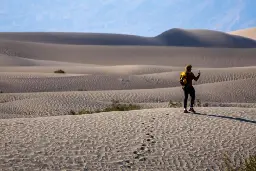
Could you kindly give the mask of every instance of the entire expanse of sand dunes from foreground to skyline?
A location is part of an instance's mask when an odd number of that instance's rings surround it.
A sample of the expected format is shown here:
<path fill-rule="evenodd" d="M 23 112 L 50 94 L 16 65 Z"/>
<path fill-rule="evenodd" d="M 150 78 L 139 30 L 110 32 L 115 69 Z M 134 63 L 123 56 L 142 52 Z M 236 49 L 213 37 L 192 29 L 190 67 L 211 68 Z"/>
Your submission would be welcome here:
<path fill-rule="evenodd" d="M 253 42 L 186 29 L 151 38 L 0 33 L 0 168 L 218 171 L 224 153 L 239 166 L 256 155 Z M 187 64 L 201 71 L 197 114 L 179 106 Z M 141 109 L 71 113 L 113 100 Z"/>

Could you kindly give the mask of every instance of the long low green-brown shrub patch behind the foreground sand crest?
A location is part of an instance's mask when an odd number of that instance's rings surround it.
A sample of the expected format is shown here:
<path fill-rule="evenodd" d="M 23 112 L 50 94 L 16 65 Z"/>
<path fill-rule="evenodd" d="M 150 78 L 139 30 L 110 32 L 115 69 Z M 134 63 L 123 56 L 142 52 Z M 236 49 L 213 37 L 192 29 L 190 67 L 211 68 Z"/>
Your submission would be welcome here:
<path fill-rule="evenodd" d="M 111 111 L 129 111 L 129 110 L 139 110 L 141 109 L 141 106 L 135 105 L 135 104 L 121 104 L 119 101 L 112 100 L 112 104 L 109 107 L 106 107 L 102 110 L 87 110 L 83 109 L 79 111 L 78 113 L 71 110 L 69 113 L 71 115 L 82 115 L 82 114 L 92 114 L 92 113 L 100 113 L 100 112 L 111 112 Z"/>

